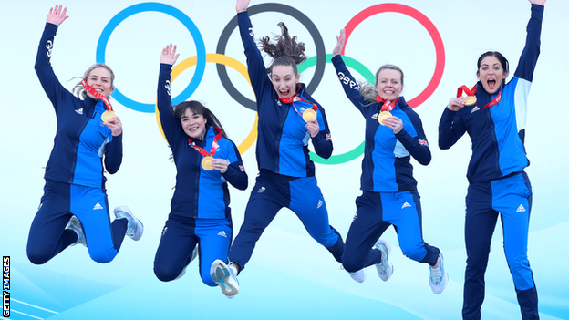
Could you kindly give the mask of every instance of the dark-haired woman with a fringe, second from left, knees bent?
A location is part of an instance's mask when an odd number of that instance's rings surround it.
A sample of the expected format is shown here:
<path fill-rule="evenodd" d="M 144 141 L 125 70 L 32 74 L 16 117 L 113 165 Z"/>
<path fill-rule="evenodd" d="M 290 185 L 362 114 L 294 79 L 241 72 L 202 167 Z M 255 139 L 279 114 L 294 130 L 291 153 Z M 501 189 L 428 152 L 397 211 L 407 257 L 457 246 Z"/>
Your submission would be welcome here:
<path fill-rule="evenodd" d="M 209 108 L 191 100 L 172 109 L 171 67 L 178 56 L 172 45 L 160 56 L 158 108 L 177 173 L 154 274 L 164 282 L 178 279 L 199 256 L 203 283 L 215 286 L 210 266 L 227 258 L 233 238 L 228 183 L 247 189 L 247 173 L 239 150 Z"/>

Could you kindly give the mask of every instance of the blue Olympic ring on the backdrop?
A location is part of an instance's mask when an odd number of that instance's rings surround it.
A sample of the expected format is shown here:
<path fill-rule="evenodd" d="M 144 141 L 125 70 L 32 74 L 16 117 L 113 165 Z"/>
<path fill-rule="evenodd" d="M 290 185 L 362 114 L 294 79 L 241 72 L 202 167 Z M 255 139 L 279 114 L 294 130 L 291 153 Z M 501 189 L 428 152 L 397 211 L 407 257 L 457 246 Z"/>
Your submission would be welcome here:
<path fill-rule="evenodd" d="M 198 88 L 200 82 L 202 82 L 203 73 L 205 71 L 206 53 L 202 34 L 200 33 L 198 27 L 195 26 L 188 15 L 185 15 L 175 7 L 171 5 L 148 2 L 138 5 L 131 5 L 128 8 L 120 11 L 117 15 L 113 16 L 113 18 L 110 19 L 109 24 L 105 26 L 103 32 L 98 38 L 96 56 L 97 63 L 105 63 L 105 51 L 107 50 L 109 37 L 115 28 L 130 15 L 136 15 L 145 11 L 157 11 L 175 17 L 184 26 L 186 26 L 188 31 L 190 31 L 191 36 L 193 37 L 198 61 L 196 64 L 195 72 L 191 78 L 190 84 L 188 84 L 188 87 L 186 87 L 181 92 L 181 94 L 178 95 L 178 97 L 172 98 L 172 104 L 177 105 L 178 103 L 185 101 L 187 98 L 190 98 L 191 94 L 193 94 L 193 92 Z M 134 101 L 120 93 L 119 88 L 115 88 L 112 97 L 119 101 L 119 103 L 122 105 L 127 106 L 128 108 L 132 108 L 136 111 L 153 113 L 155 109 L 154 103 L 141 103 Z"/>

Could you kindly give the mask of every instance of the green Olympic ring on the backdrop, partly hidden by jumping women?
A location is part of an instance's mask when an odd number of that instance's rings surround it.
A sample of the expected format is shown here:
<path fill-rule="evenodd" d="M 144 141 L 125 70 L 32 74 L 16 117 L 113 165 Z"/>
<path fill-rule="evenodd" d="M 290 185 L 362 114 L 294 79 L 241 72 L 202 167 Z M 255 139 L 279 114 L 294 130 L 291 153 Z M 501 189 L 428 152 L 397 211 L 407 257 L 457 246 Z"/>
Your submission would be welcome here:
<path fill-rule="evenodd" d="M 366 78 L 367 82 L 372 85 L 376 84 L 376 78 L 373 72 L 369 71 L 369 69 L 362 65 L 361 63 L 357 62 L 356 59 L 351 57 L 342 56 L 344 62 L 348 67 L 352 67 L 356 70 L 360 75 Z M 332 54 L 326 54 L 326 63 L 332 62 Z M 298 65 L 298 73 L 302 73 L 309 67 L 316 66 L 316 57 L 309 57 L 306 59 L 305 62 Z M 366 141 L 364 140 L 359 146 L 357 146 L 354 150 L 347 151 L 346 153 L 333 155 L 328 159 L 324 159 L 318 156 L 316 153 L 310 151 L 310 160 L 315 161 L 316 163 L 322 164 L 340 164 L 347 161 L 351 161 L 359 157 L 360 155 L 364 154 L 364 148 L 366 147 Z"/>

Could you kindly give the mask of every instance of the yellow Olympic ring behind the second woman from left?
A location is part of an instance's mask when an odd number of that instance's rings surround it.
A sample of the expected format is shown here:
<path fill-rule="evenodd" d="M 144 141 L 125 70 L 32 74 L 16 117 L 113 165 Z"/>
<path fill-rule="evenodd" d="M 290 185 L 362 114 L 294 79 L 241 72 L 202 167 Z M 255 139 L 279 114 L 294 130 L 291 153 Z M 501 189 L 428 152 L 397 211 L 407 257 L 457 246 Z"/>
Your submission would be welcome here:
<path fill-rule="evenodd" d="M 189 67 L 195 66 L 197 61 L 198 57 L 193 56 L 181 61 L 181 63 L 179 63 L 176 67 L 173 67 L 171 72 L 171 83 L 174 82 L 174 79 L 178 77 L 182 71 L 184 71 Z M 233 67 L 233 69 L 239 72 L 249 82 L 249 85 L 251 86 L 251 80 L 249 79 L 249 74 L 247 73 L 247 67 L 245 67 L 241 62 L 233 59 L 233 57 L 227 57 L 225 55 L 220 55 L 220 54 L 207 54 L 206 62 L 214 62 L 227 67 Z M 156 121 L 158 122 L 158 128 L 160 129 L 162 137 L 166 139 L 166 136 L 164 135 L 164 129 L 162 129 L 162 123 L 160 121 L 160 111 L 158 110 L 158 102 L 155 105 L 155 109 L 156 109 Z M 251 129 L 251 132 L 249 132 L 247 138 L 245 138 L 243 142 L 239 146 L 237 146 L 239 153 L 243 154 L 246 150 L 249 150 L 249 148 L 251 148 L 251 146 L 253 145 L 254 140 L 257 139 L 258 121 L 259 121 L 259 116 L 255 114 L 255 121 L 253 124 L 253 128 Z"/>

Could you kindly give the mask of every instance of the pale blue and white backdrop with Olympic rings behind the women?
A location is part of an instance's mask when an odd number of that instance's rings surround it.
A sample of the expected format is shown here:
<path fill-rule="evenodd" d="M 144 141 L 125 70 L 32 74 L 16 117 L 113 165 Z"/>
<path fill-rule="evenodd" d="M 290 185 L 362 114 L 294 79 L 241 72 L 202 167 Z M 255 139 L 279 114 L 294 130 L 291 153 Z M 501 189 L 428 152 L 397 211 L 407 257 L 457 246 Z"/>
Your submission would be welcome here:
<path fill-rule="evenodd" d="M 525 0 L 252 1 L 249 14 L 256 38 L 280 32 L 285 22 L 305 42 L 308 60 L 301 81 L 326 108 L 335 150 L 324 160 L 311 153 L 330 224 L 344 237 L 361 194 L 364 120 L 345 97 L 330 64 L 336 35 L 347 30 L 344 55 L 360 81 L 374 83 L 383 64 L 405 72 L 404 97 L 419 113 L 433 160 L 413 161 L 419 181 L 423 236 L 445 253 L 450 283 L 430 292 L 429 268 L 402 255 L 392 228 L 395 273 L 387 282 L 367 269 L 364 284 L 352 281 L 329 253 L 312 240 L 294 213 L 283 210 L 257 243 L 239 276 L 241 293 L 226 299 L 219 288 L 202 284 L 193 262 L 179 280 L 161 283 L 153 274 L 154 254 L 170 211 L 175 168 L 156 113 L 161 49 L 172 43 L 180 57 L 172 71 L 177 104 L 196 99 L 221 119 L 243 156 L 250 178 L 247 191 L 231 189 L 235 235 L 257 173 L 256 106 L 237 31 L 235 3 L 161 3 L 70 0 L 70 16 L 57 31 L 52 66 L 66 88 L 96 62 L 113 68 L 111 102 L 124 126 L 124 160 L 108 175 L 109 207 L 128 205 L 144 223 L 140 242 L 126 239 L 111 263 L 94 263 L 82 246 L 67 248 L 50 262 L 33 265 L 26 257 L 29 226 L 43 193 L 44 167 L 53 145 L 56 120 L 33 70 L 37 44 L 49 7 L 43 1 L 11 2 L 3 19 L 0 126 L 0 253 L 10 256 L 13 319 L 458 319 L 466 254 L 465 178 L 471 141 L 463 137 L 450 150 L 437 147 L 440 114 L 461 85 L 476 82 L 476 60 L 498 50 L 512 70 L 522 52 L 530 4 Z M 564 146 L 564 75 L 569 63 L 564 13 L 569 4 L 548 0 L 542 53 L 529 98 L 526 149 L 532 165 L 533 211 L 528 253 L 542 319 L 569 318 L 569 280 L 564 243 L 569 242 L 565 198 L 569 172 Z M 270 63 L 266 58 L 265 63 Z M 312 149 L 312 146 L 311 146 Z M 493 236 L 486 274 L 485 319 L 519 319 L 512 277 L 502 249 L 502 226 Z"/>

